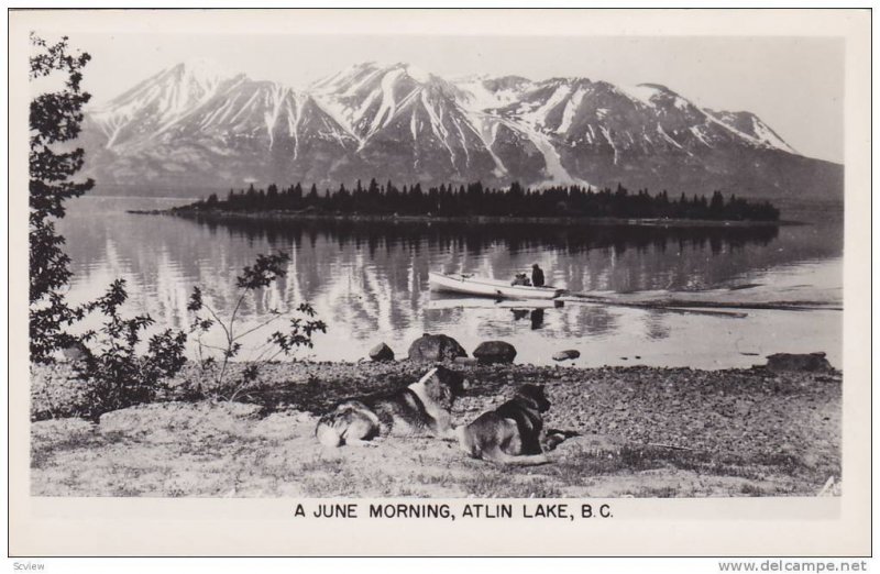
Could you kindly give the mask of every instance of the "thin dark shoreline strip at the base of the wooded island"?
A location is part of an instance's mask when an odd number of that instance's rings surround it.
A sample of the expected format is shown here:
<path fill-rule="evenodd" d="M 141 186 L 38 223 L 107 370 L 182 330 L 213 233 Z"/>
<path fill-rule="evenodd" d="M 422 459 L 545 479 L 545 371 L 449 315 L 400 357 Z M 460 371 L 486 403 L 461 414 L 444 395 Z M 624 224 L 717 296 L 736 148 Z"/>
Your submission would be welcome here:
<path fill-rule="evenodd" d="M 553 224 L 553 225 L 631 225 L 652 228 L 777 228 L 805 225 L 800 221 L 740 221 L 708 219 L 660 219 L 660 218 L 588 218 L 588 217 L 509 217 L 509 216 L 395 216 L 369 213 L 318 213 L 302 211 L 223 211 L 186 208 L 139 210 L 127 213 L 138 216 L 172 216 L 207 221 L 345 221 L 385 223 L 505 223 L 505 224 Z"/>

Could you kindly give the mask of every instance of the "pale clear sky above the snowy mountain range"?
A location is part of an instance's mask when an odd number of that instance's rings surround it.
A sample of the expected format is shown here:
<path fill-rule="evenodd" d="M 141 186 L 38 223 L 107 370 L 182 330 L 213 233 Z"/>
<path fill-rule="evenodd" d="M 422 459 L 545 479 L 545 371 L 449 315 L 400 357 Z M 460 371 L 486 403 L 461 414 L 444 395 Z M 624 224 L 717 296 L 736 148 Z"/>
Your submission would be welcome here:
<path fill-rule="evenodd" d="M 835 37 L 76 33 L 70 44 L 92 56 L 84 86 L 96 104 L 193 58 L 300 89 L 361 62 L 406 62 L 446 78 L 661 84 L 697 106 L 756 113 L 803 155 L 844 157 L 845 44 Z"/>

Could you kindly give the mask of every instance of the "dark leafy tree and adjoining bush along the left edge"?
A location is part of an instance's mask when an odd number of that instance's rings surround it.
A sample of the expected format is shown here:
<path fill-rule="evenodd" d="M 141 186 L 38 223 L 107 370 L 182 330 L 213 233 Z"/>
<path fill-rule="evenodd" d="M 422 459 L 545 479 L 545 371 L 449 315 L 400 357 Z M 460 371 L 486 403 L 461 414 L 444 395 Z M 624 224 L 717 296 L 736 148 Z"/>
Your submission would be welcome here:
<path fill-rule="evenodd" d="M 170 329 L 153 335 L 141 353 L 150 316 L 123 318 L 128 299 L 125 283 L 113 282 L 107 294 L 80 307 L 70 307 L 64 289 L 70 279 L 69 257 L 55 221 L 65 216 L 65 201 L 92 188 L 95 181 L 75 181 L 84 151 L 72 148 L 82 122 L 82 107 L 90 95 L 80 89 L 88 54 L 72 55 L 67 37 L 50 45 L 31 35 L 31 79 L 64 77 L 58 91 L 40 93 L 30 109 L 30 342 L 31 360 L 48 363 L 59 349 L 77 345 L 85 357 L 76 363 L 77 377 L 86 388 L 84 413 L 98 417 L 108 410 L 155 399 L 163 382 L 184 365 L 186 333 Z M 77 338 L 66 328 L 92 312 L 106 319 L 98 331 Z M 90 343 L 87 345 L 86 343 Z"/>

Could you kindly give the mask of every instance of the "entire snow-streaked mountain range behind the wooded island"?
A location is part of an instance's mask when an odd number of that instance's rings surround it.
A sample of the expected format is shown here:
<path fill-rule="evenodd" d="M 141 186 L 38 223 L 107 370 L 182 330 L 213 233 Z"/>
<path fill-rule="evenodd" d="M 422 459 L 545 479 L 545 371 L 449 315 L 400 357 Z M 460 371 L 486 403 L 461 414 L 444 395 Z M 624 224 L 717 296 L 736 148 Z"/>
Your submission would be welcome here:
<path fill-rule="evenodd" d="M 82 141 L 101 186 L 334 189 L 376 177 L 752 197 L 843 190 L 842 166 L 799 155 L 755 114 L 703 109 L 663 86 L 448 80 L 403 63 L 359 64 L 296 91 L 187 62 L 90 110 Z"/>

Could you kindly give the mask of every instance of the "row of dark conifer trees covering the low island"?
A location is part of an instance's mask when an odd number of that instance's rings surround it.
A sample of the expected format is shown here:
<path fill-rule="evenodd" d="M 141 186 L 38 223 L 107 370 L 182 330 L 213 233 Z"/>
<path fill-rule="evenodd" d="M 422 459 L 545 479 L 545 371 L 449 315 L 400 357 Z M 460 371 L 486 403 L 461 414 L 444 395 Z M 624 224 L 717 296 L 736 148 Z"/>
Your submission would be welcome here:
<path fill-rule="evenodd" d="M 476 181 L 468 185 L 441 184 L 422 189 L 420 184 L 398 188 L 392 181 L 380 185 L 372 179 L 366 186 L 359 179 L 353 189 L 344 184 L 323 192 L 312 184 L 305 190 L 301 184 L 286 189 L 271 184 L 266 189 L 230 189 L 224 200 L 211 194 L 184 209 L 228 211 L 311 211 L 318 213 L 367 216 L 435 216 L 435 217 L 586 217 L 696 219 L 730 221 L 778 221 L 779 209 L 767 201 L 752 202 L 736 195 L 725 198 L 715 191 L 711 198 L 681 194 L 670 198 L 663 190 L 651 195 L 647 189 L 631 194 L 623 185 L 612 190 L 594 190 L 578 185 L 553 186 L 544 189 L 524 188 L 514 181 L 507 189 L 484 187 Z"/>

